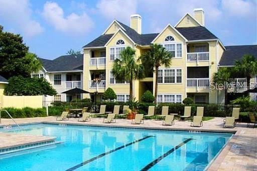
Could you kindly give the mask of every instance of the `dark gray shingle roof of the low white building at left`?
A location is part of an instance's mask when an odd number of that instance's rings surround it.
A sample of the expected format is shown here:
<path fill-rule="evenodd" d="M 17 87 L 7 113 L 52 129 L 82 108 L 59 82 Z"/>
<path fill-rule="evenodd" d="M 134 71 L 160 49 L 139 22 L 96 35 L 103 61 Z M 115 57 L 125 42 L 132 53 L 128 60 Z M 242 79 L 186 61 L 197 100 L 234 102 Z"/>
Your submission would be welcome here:
<path fill-rule="evenodd" d="M 48 72 L 83 70 L 83 54 L 64 55 L 54 60 L 39 58 Z"/>

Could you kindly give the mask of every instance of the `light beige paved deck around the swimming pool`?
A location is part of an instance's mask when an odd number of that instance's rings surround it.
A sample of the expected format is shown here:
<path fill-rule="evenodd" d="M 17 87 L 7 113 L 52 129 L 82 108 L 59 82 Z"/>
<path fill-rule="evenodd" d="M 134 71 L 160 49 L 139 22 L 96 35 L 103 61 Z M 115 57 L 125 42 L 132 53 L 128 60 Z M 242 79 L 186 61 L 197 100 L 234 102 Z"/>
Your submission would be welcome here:
<path fill-rule="evenodd" d="M 246 123 L 237 123 L 235 128 L 223 128 L 223 118 L 214 118 L 203 122 L 202 127 L 191 127 L 189 121 L 177 121 L 173 126 L 163 126 L 160 120 L 145 120 L 144 124 L 132 125 L 131 120 L 116 119 L 116 123 L 102 123 L 102 118 L 91 118 L 90 122 L 78 122 L 75 118 L 70 118 L 66 121 L 56 121 L 56 117 L 37 117 L 37 118 L 21 118 L 15 119 L 18 124 L 34 123 L 34 122 L 54 122 L 61 124 L 85 124 L 95 126 L 110 126 L 110 127 L 137 127 L 151 129 L 166 129 L 166 130 L 195 130 L 195 131 L 230 131 L 236 132 L 223 148 L 218 157 L 211 163 L 208 170 L 256 170 L 257 171 L 257 129 L 247 128 Z M 2 119 L 0 125 L 14 124 L 11 119 Z M 9 134 L 9 133 L 4 133 Z M 11 133 L 10 133 L 11 134 Z M 16 143 L 20 139 L 21 134 L 12 134 L 13 137 L 9 140 L 1 141 L 2 145 Z M 35 138 L 28 138 L 24 135 L 26 141 Z M 3 138 L 3 133 L 0 133 L 0 139 Z M 44 137 L 44 136 L 43 136 Z M 39 137 L 36 137 L 39 140 Z M 14 141 L 14 142 L 13 142 Z M 0 143 L 0 148 L 1 148 Z"/>

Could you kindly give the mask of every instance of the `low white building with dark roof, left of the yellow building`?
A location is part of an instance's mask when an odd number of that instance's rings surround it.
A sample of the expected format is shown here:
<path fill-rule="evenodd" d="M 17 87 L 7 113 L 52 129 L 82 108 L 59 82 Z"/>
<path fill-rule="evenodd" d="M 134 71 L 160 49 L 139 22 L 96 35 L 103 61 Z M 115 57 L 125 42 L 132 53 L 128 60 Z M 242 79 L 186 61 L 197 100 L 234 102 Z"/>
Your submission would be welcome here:
<path fill-rule="evenodd" d="M 53 101 L 71 101 L 75 95 L 62 94 L 62 92 L 72 88 L 83 87 L 83 55 L 64 55 L 54 60 L 40 58 L 43 69 L 38 73 L 32 73 L 32 77 L 44 77 L 56 89 L 56 96 L 47 96 L 45 103 Z"/>

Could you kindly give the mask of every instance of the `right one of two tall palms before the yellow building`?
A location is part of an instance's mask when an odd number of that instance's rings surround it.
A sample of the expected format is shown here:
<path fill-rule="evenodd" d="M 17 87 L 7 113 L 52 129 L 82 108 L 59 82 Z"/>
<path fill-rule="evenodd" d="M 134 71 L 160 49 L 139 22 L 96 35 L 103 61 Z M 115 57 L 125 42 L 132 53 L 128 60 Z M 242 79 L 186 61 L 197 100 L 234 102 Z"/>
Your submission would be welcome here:
<path fill-rule="evenodd" d="M 140 59 L 149 70 L 153 71 L 155 67 L 155 103 L 157 103 L 159 67 L 162 65 L 169 67 L 171 65 L 172 54 L 162 45 L 154 44 L 151 45 L 150 51 L 145 52 Z"/>

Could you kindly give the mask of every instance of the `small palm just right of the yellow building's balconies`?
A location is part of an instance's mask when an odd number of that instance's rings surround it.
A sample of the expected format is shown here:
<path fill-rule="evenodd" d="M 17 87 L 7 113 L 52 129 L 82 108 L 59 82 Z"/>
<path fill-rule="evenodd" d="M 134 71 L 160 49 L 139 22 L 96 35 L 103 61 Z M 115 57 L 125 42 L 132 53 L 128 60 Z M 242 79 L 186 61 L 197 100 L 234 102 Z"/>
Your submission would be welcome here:
<path fill-rule="evenodd" d="M 213 82 L 216 84 L 222 84 L 225 93 L 225 104 L 227 104 L 227 87 L 226 83 L 229 82 L 231 77 L 230 70 L 228 68 L 219 68 L 218 72 L 213 75 Z"/>

